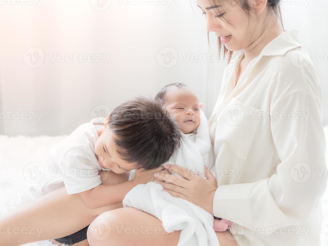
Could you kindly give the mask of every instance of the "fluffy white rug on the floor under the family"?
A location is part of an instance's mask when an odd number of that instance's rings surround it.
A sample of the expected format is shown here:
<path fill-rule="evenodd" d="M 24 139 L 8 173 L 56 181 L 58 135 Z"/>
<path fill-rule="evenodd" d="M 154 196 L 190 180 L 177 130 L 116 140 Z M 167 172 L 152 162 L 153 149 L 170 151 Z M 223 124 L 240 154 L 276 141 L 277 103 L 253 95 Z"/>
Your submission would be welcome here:
<path fill-rule="evenodd" d="M 325 128 L 325 134 L 328 143 L 328 126 Z M 63 138 L 64 136 L 0 136 L 0 217 L 32 199 L 29 193 L 30 183 L 23 177 L 24 167 L 28 163 L 42 161 L 51 146 Z M 328 150 L 326 160 L 328 163 Z M 328 189 L 321 202 L 323 208 L 321 242 L 322 246 L 325 246 L 328 245 Z M 50 241 L 40 241 L 27 245 L 52 246 L 53 244 Z"/>

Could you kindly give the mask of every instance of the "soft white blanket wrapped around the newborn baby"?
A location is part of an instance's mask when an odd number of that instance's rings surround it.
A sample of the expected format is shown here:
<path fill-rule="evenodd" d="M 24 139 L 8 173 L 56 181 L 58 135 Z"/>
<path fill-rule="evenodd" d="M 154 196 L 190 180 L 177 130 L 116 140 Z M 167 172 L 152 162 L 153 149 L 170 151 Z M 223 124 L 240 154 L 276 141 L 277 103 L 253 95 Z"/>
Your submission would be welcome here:
<path fill-rule="evenodd" d="M 200 124 L 197 130 L 183 134 L 181 146 L 167 163 L 169 162 L 192 170 L 203 178 L 206 178 L 204 165 L 212 169 L 213 151 L 208 122 L 202 111 L 200 111 Z M 134 178 L 134 174 L 135 170 L 131 171 L 129 180 Z M 178 246 L 219 245 L 213 230 L 213 215 L 192 202 L 173 197 L 162 190 L 163 187 L 154 182 L 136 185 L 125 196 L 123 207 L 133 207 L 154 215 L 162 221 L 168 233 L 181 230 Z"/>

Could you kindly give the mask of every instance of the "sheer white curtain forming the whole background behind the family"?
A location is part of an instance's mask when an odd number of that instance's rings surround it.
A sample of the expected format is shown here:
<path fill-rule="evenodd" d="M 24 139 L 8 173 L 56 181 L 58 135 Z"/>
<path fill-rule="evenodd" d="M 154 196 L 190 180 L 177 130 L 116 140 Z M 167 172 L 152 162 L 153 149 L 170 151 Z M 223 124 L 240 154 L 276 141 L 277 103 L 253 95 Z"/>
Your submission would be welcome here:
<path fill-rule="evenodd" d="M 285 29 L 300 30 L 327 96 L 328 4 L 302 1 L 306 7 L 282 2 Z M 208 45 L 194 0 L 0 4 L 0 134 L 69 134 L 173 82 L 194 90 L 211 115 L 226 61 L 216 56 L 214 35 Z"/>

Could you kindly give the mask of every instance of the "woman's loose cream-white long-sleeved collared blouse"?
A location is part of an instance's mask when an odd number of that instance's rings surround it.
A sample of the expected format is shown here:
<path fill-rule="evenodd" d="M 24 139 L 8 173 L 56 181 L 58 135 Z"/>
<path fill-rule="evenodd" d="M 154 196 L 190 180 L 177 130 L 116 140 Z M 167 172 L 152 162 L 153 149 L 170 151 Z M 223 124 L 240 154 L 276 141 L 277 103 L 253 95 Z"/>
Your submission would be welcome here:
<path fill-rule="evenodd" d="M 280 34 L 247 66 L 226 67 L 209 120 L 218 188 L 213 211 L 239 246 L 320 245 L 325 177 L 322 92 L 298 30 Z"/>

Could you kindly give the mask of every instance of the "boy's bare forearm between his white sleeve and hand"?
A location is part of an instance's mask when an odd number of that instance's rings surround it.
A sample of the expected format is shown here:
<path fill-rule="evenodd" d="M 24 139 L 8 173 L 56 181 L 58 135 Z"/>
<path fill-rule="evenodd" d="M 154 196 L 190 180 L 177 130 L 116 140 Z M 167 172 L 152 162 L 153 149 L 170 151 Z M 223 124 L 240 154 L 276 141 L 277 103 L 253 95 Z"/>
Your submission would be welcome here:
<path fill-rule="evenodd" d="M 133 187 L 133 180 L 115 185 L 100 184 L 90 190 L 79 193 L 79 196 L 87 208 L 96 209 L 122 202 L 125 195 Z"/>

